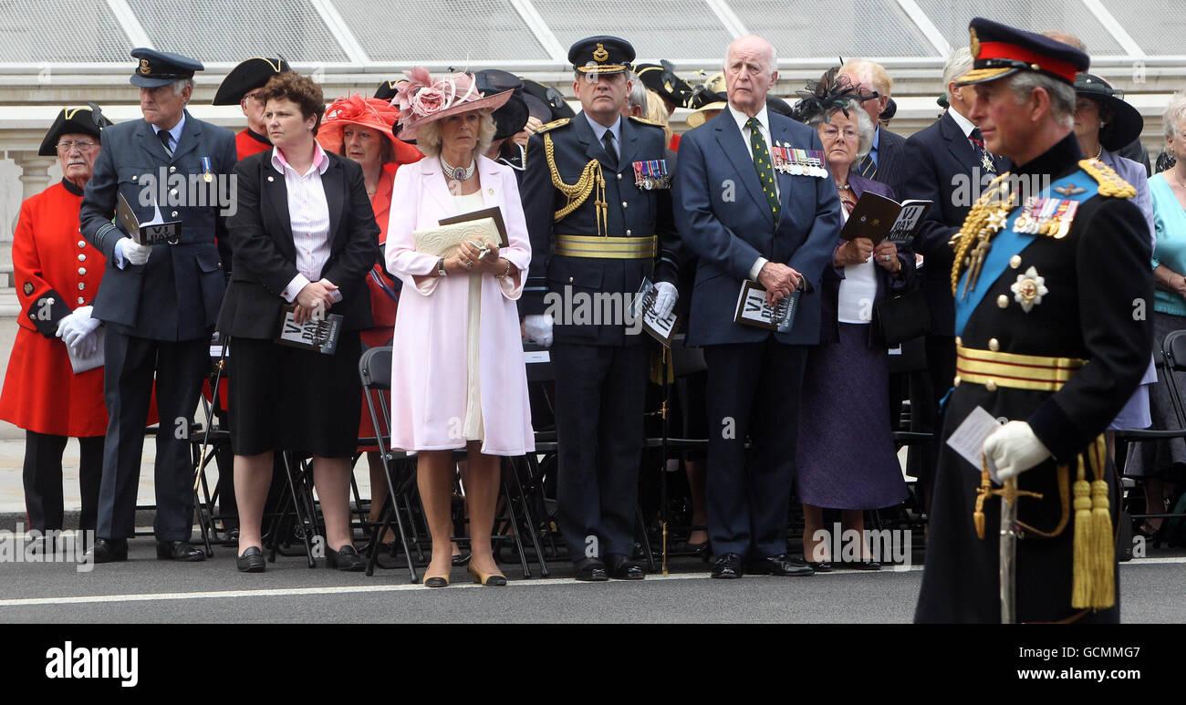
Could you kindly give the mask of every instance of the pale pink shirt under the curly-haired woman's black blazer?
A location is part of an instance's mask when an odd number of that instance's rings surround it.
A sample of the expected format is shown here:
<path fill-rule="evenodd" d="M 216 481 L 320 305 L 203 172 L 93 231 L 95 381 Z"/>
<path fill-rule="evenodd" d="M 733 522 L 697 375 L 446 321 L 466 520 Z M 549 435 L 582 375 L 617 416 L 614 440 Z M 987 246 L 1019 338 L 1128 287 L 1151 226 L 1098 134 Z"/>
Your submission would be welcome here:
<path fill-rule="evenodd" d="M 321 174 L 330 168 L 330 158 L 319 143 L 313 142 L 313 164 L 304 174 L 296 173 L 279 148 L 272 148 L 272 167 L 283 175 L 288 190 L 288 219 L 296 250 L 296 276 L 282 293 L 289 303 L 310 282 L 321 278 L 321 269 L 330 258 L 330 205 L 321 185 Z M 340 301 L 342 294 L 334 291 L 333 300 Z"/>

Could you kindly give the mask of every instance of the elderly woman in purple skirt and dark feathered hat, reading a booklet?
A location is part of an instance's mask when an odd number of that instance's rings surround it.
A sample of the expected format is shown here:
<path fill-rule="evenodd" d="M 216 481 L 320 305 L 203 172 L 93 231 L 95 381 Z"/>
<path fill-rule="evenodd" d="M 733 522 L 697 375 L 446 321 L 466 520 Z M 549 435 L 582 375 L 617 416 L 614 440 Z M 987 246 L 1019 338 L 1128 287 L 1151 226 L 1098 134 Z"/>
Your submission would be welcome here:
<path fill-rule="evenodd" d="M 891 188 L 850 173 L 873 143 L 873 124 L 859 89 L 846 78 L 809 86 L 798 116 L 820 132 L 824 159 L 840 194 L 842 219 L 866 191 L 893 198 Z M 823 509 L 841 509 L 846 536 L 861 537 L 848 563 L 878 570 L 865 537 L 865 509 L 906 499 L 890 419 L 886 344 L 873 326 L 873 308 L 913 282 L 914 255 L 888 241 L 840 239 L 824 271 L 820 345 L 808 353 L 798 427 L 796 485 L 803 502 L 804 558 L 816 571 L 831 569 Z M 849 543 L 846 540 L 846 543 Z M 849 558 L 849 551 L 844 551 Z"/>

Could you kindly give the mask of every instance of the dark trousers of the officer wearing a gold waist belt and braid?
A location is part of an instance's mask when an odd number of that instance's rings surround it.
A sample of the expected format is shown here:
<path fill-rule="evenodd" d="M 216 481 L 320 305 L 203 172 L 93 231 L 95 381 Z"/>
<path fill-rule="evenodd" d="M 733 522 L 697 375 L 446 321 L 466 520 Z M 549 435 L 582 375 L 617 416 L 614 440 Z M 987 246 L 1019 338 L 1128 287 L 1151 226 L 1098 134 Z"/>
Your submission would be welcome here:
<path fill-rule="evenodd" d="M 635 551 L 648 346 L 551 346 L 560 530 L 572 559 Z M 588 537 L 595 537 L 591 541 Z"/>

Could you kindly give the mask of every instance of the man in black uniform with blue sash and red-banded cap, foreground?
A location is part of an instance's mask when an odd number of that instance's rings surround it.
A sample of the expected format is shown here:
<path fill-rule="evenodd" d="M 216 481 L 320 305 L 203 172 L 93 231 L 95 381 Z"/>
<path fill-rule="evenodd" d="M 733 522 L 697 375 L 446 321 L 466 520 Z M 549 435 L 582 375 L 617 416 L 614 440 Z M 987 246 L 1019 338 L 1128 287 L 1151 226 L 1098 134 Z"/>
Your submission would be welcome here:
<path fill-rule="evenodd" d="M 943 446 L 916 620 L 1115 622 L 1120 495 L 1103 432 L 1148 365 L 1148 226 L 1135 190 L 1084 159 L 1071 133 L 1086 55 L 981 18 L 970 28 L 975 64 L 957 84 L 976 91 L 969 118 L 986 147 L 1016 166 L 952 241 L 956 377 L 943 438 L 977 406 L 1007 423 L 989 421 L 983 446 L 965 449 L 982 451 L 976 464 Z M 1001 521 L 1003 499 L 1015 521 Z M 1002 560 L 1015 588 L 1002 589 Z"/>

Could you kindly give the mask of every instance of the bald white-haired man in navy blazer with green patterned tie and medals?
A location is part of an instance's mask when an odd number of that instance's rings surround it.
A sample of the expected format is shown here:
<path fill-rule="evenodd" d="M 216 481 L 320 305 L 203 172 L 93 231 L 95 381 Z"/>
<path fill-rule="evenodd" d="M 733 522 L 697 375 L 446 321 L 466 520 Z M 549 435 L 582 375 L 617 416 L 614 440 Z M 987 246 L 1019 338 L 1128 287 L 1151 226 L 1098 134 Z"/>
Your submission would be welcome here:
<path fill-rule="evenodd" d="M 817 291 L 836 246 L 840 199 L 827 173 L 772 168 L 771 142 L 822 155 L 816 130 L 766 109 L 777 65 L 774 47 L 760 37 L 729 45 L 728 108 L 684 134 L 675 178 L 676 225 L 699 256 L 688 344 L 703 346 L 708 364 L 708 533 L 716 578 L 746 570 L 811 575 L 786 555 L 786 523 L 804 346 L 820 342 Z M 757 280 L 771 301 L 803 290 L 790 331 L 733 322 L 745 280 Z"/>

